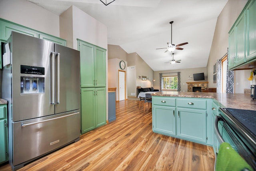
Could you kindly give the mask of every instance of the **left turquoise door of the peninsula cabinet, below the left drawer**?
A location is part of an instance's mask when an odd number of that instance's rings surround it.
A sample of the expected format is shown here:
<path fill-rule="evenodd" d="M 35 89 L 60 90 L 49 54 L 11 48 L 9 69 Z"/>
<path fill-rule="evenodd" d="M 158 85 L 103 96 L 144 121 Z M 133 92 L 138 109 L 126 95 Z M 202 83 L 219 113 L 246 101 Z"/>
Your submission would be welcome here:
<path fill-rule="evenodd" d="M 152 111 L 153 131 L 176 135 L 175 107 L 154 105 Z"/>

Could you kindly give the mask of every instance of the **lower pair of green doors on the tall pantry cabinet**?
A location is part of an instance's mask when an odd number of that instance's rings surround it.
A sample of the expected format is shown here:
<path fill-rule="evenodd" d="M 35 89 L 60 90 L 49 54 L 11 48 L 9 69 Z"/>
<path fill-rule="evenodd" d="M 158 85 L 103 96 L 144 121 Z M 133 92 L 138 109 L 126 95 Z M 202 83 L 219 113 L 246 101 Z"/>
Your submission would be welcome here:
<path fill-rule="evenodd" d="M 81 89 L 81 133 L 106 124 L 106 87 Z"/>

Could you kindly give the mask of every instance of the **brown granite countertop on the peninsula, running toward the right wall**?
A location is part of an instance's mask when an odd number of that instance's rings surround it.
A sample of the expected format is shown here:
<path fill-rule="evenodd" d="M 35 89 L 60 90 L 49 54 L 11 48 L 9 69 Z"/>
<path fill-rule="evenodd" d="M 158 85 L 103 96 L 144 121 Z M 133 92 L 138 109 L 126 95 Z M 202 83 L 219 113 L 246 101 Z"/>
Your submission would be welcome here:
<path fill-rule="evenodd" d="M 153 96 L 168 97 L 194 97 L 214 99 L 220 107 L 234 109 L 256 110 L 256 99 L 252 99 L 250 94 L 245 93 L 201 93 L 201 92 L 177 92 L 177 91 L 159 91 L 152 93 Z"/>

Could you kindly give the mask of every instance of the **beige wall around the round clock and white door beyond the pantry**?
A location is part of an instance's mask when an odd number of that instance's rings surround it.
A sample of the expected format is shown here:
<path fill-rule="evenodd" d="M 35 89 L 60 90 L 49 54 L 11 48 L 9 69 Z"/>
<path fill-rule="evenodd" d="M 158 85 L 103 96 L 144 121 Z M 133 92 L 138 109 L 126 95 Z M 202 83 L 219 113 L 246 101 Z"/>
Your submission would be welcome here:
<path fill-rule="evenodd" d="M 108 45 L 108 87 L 118 87 L 119 62 L 126 62 L 126 98 L 136 97 L 136 87 L 151 87 L 154 71 L 136 53 L 127 54 L 120 46 Z M 131 69 L 134 67 L 134 69 Z M 117 74 L 117 75 L 116 75 Z M 150 80 L 142 81 L 138 76 L 146 76 Z M 114 80 L 116 78 L 116 80 Z M 135 93 L 135 95 L 132 95 Z M 118 100 L 118 90 L 116 92 Z"/>

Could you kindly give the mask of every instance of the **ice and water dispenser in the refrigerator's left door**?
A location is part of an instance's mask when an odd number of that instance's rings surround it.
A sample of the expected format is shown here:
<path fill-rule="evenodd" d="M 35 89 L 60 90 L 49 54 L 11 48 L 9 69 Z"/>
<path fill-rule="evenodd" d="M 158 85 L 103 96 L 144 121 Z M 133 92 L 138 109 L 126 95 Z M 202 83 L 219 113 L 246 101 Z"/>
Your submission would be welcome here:
<path fill-rule="evenodd" d="M 44 93 L 44 68 L 20 66 L 20 93 Z M 32 76 L 33 74 L 33 76 Z M 40 75 L 40 76 L 34 76 Z"/>

